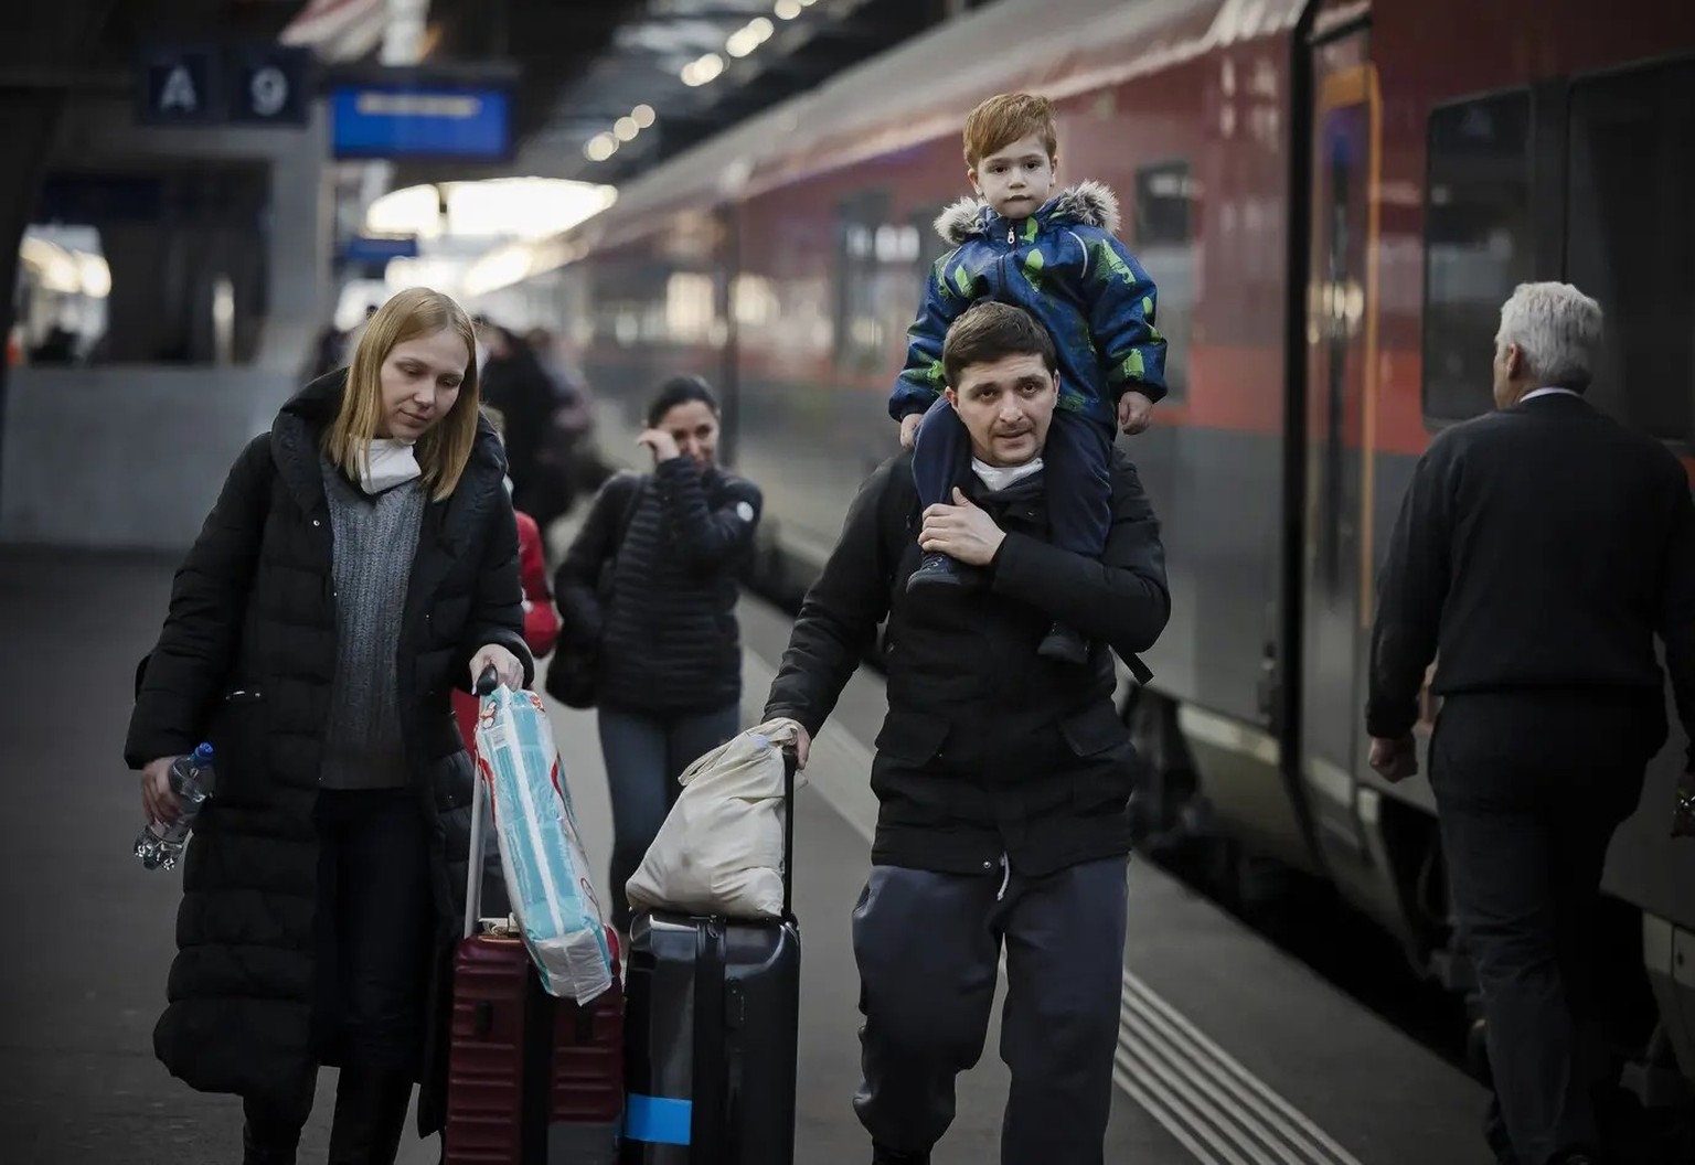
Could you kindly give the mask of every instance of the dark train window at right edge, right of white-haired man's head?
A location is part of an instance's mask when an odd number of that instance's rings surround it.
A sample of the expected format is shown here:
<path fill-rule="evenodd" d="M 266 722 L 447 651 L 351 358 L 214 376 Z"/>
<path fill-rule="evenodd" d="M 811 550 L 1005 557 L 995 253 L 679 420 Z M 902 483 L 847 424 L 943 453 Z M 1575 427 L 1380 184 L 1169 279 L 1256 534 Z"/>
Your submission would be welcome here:
<path fill-rule="evenodd" d="M 1688 440 L 1695 63 L 1578 81 L 1566 157 L 1566 278 L 1607 312 L 1590 395 L 1636 428 Z"/>

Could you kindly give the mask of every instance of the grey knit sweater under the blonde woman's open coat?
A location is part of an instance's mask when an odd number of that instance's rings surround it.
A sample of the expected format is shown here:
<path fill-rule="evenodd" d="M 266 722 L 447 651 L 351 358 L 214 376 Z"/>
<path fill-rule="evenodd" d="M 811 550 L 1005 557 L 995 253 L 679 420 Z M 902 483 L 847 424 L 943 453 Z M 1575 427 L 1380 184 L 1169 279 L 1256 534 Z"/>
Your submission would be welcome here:
<path fill-rule="evenodd" d="M 395 655 L 424 488 L 414 479 L 370 498 L 325 461 L 324 493 L 336 533 L 336 687 L 319 784 L 393 789 L 407 784 Z"/>

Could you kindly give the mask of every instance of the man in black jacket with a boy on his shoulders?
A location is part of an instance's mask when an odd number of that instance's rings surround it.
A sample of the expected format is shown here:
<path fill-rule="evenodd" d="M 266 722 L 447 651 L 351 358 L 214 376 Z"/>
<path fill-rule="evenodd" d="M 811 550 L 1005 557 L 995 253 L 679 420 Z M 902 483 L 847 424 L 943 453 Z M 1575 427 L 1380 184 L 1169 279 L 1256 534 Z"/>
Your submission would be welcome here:
<path fill-rule="evenodd" d="M 983 1052 L 1002 947 L 1000 1055 L 1012 1070 L 1003 1165 L 1102 1165 L 1124 984 L 1129 733 L 1114 669 L 1036 659 L 1056 618 L 1132 660 L 1170 615 L 1159 523 L 1110 454 L 1097 557 L 1056 545 L 1071 505 L 1044 471 L 1059 403 L 1053 339 L 980 303 L 941 347 L 973 472 L 920 506 L 912 454 L 861 486 L 807 594 L 764 720 L 812 735 L 883 645 L 871 877 L 853 918 L 863 1084 L 875 1165 L 927 1165 L 954 1118 L 954 1077 Z M 919 601 L 907 581 L 948 554 L 981 584 Z M 922 618 L 915 615 L 922 606 Z"/>

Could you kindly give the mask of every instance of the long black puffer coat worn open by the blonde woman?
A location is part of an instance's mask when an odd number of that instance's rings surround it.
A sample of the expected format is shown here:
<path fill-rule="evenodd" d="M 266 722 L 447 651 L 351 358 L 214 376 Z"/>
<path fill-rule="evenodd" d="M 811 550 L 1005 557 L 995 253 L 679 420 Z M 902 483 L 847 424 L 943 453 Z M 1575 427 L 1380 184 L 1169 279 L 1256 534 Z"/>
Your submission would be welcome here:
<path fill-rule="evenodd" d="M 131 767 L 215 748 L 217 792 L 195 826 L 176 919 L 180 953 L 154 1052 L 205 1092 L 295 1079 L 314 1053 L 317 799 L 336 674 L 331 518 L 319 469 L 346 371 L 308 384 L 236 461 L 176 574 L 171 611 L 136 698 Z M 447 955 L 458 938 L 471 765 L 449 704 L 471 655 L 500 643 L 525 662 L 517 527 L 486 422 L 453 496 L 419 530 L 397 657 L 400 715 L 420 813 L 434 823 L 437 906 L 419 1124 L 441 1126 Z"/>

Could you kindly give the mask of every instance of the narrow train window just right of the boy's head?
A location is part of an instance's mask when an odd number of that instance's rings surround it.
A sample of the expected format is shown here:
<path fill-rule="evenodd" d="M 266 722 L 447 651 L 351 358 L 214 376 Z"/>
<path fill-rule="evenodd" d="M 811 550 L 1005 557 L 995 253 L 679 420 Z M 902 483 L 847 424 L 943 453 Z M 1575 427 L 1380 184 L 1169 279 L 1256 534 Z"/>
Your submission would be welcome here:
<path fill-rule="evenodd" d="M 1154 323 L 1166 337 L 1166 400 L 1188 393 L 1188 345 L 1195 312 L 1195 178 L 1186 161 L 1136 171 L 1132 247 L 1159 288 Z"/>

